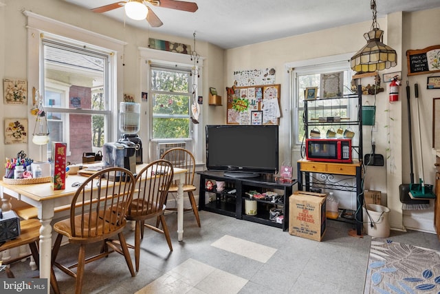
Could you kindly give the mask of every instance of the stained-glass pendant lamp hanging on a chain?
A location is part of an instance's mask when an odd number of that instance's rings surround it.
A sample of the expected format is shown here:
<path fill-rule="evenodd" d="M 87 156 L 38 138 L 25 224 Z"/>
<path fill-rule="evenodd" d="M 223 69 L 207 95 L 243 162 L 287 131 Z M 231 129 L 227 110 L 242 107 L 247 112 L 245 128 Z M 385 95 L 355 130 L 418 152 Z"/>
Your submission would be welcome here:
<path fill-rule="evenodd" d="M 351 57 L 351 69 L 355 72 L 376 72 L 397 65 L 397 53 L 382 42 L 384 31 L 376 21 L 376 2 L 371 0 L 373 24 L 371 30 L 364 34 L 366 45 Z"/>

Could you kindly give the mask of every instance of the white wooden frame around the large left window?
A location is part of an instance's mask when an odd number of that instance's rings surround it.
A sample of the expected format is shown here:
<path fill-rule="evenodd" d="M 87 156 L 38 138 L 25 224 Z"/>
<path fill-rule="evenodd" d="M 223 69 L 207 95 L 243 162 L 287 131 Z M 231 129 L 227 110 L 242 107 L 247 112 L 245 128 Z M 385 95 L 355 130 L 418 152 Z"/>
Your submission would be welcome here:
<path fill-rule="evenodd" d="M 111 56 L 111 65 L 109 66 L 109 112 L 111 122 L 106 125 L 107 138 L 109 141 L 118 138 L 118 97 L 123 96 L 123 66 L 122 59 L 118 56 L 124 52 L 125 42 L 117 39 L 97 34 L 83 28 L 78 28 L 74 25 L 69 25 L 61 21 L 56 21 L 48 17 L 43 17 L 34 12 L 24 11 L 28 17 L 28 85 L 30 88 L 35 87 L 36 90 L 43 89 L 43 73 L 41 72 L 41 56 L 43 55 L 43 45 L 41 43 L 42 36 L 56 36 L 58 39 L 65 39 L 65 41 L 75 40 L 76 45 L 83 45 L 85 48 L 93 44 L 95 48 L 100 48 L 102 51 L 109 52 Z M 33 122 L 34 116 L 28 115 L 28 120 Z M 33 125 L 30 125 L 30 129 Z M 42 156 L 39 146 L 34 144 L 28 145 L 29 154 L 31 158 L 40 158 L 45 160 Z"/>

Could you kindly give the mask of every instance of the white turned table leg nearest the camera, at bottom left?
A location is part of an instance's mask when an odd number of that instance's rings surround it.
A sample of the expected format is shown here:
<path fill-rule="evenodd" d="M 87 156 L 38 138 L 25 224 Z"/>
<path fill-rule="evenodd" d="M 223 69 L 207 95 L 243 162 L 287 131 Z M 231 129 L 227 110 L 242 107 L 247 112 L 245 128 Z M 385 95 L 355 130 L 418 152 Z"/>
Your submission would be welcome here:
<path fill-rule="evenodd" d="M 50 268 L 52 259 L 52 226 L 54 202 L 47 200 L 39 207 L 40 228 L 40 277 L 47 279 L 47 293 L 50 294 Z"/>

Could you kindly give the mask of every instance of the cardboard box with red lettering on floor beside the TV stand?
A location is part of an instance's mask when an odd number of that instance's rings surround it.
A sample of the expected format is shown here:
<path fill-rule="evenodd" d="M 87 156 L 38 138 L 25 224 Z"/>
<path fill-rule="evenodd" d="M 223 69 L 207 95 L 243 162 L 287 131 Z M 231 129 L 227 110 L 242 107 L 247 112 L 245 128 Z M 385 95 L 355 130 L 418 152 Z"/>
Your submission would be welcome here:
<path fill-rule="evenodd" d="M 289 233 L 320 241 L 327 229 L 325 216 L 326 195 L 295 191 L 289 197 Z"/>

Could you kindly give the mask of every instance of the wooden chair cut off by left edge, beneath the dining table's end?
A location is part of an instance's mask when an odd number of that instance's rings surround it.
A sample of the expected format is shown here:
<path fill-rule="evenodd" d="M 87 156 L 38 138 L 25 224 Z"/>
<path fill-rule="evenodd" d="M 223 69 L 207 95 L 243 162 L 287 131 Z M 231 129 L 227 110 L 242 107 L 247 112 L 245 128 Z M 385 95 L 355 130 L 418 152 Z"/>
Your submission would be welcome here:
<path fill-rule="evenodd" d="M 28 258 L 30 255 L 34 258 L 36 266 L 40 264 L 40 256 L 39 256 L 39 241 L 40 241 L 40 221 L 36 219 L 32 220 L 21 220 L 20 221 L 20 235 L 19 237 L 4 242 L 0 245 L 0 253 L 5 250 L 10 250 L 13 248 L 17 248 L 23 245 L 29 245 L 30 252 L 27 255 L 21 255 L 17 258 L 11 258 L 10 260 L 5 260 L 2 262 L 3 265 L 13 264 L 14 262 L 18 262 L 19 260 L 23 260 L 23 258 Z M 12 273 L 11 269 L 7 267 L 5 269 L 6 275 L 9 278 L 14 278 L 14 273 Z M 51 271 L 50 284 L 54 290 L 54 293 L 60 293 L 58 289 L 58 284 L 56 283 L 54 272 Z"/>

